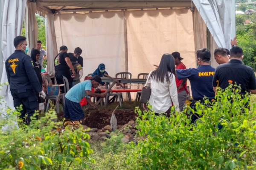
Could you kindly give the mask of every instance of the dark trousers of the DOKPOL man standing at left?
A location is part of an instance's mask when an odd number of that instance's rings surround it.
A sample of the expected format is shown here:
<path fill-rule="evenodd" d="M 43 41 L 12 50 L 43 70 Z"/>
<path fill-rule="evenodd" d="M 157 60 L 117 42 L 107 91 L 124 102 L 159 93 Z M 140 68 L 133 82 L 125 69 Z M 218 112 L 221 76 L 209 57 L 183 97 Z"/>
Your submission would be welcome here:
<path fill-rule="evenodd" d="M 15 109 L 22 105 L 20 118 L 23 119 L 26 124 L 29 124 L 31 121 L 30 117 L 33 116 L 35 110 L 38 109 L 38 99 L 35 96 L 35 91 L 31 89 L 11 89 L 11 93 Z M 26 114 L 27 118 L 25 119 Z"/>

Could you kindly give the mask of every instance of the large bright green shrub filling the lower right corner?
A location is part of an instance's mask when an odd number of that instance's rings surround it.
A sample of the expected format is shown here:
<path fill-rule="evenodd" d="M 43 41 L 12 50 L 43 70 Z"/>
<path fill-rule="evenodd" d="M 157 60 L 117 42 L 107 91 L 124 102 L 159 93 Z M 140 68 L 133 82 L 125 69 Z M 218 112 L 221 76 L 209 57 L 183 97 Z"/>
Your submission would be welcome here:
<path fill-rule="evenodd" d="M 241 98 L 239 92 L 232 86 L 218 89 L 212 107 L 206 100 L 170 118 L 137 109 L 138 135 L 145 141 L 131 144 L 128 164 L 147 170 L 255 169 L 255 104 L 249 112 L 244 106 L 250 96 Z M 190 124 L 187 115 L 192 113 L 201 115 L 197 126 Z"/>

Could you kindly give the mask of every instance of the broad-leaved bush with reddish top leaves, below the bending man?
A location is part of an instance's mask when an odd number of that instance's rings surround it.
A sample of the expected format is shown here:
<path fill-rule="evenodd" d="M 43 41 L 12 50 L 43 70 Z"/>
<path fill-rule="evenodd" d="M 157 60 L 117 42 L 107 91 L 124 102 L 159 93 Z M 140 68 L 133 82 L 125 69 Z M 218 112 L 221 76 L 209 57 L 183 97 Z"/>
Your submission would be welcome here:
<path fill-rule="evenodd" d="M 89 167 L 86 159 L 95 163 L 89 155 L 93 153 L 90 149 L 90 144 L 85 139 L 89 139 L 90 135 L 82 130 L 81 124 L 75 122 L 65 122 L 68 124 L 65 128 L 57 128 L 50 133 L 44 135 L 44 154 L 47 154 L 61 170 L 62 164 L 68 163 L 67 169 L 72 163 L 81 164 L 83 168 Z M 53 167 L 52 169 L 57 169 Z"/>

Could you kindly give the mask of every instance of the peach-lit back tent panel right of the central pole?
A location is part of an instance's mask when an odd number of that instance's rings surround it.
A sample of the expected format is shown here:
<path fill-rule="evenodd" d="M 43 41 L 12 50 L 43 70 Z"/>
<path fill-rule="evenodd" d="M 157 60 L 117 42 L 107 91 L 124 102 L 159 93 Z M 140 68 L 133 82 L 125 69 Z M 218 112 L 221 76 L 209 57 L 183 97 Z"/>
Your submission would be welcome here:
<path fill-rule="evenodd" d="M 133 78 L 149 73 L 165 53 L 180 52 L 187 68 L 195 67 L 192 11 L 164 9 L 125 12 L 128 64 Z M 189 85 L 189 83 L 188 83 Z"/>

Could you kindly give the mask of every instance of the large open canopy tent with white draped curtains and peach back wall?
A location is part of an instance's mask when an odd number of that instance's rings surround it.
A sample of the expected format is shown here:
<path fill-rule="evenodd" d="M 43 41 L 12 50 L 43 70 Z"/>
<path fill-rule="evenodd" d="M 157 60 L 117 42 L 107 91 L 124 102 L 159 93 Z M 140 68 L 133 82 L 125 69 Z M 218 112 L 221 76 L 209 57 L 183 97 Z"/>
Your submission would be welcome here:
<path fill-rule="evenodd" d="M 83 49 L 84 75 L 105 63 L 111 76 L 129 71 L 137 78 L 154 69 L 152 64 L 164 53 L 174 51 L 181 53 L 187 67 L 195 67 L 197 49 L 230 48 L 236 35 L 235 0 L 2 0 L 1 83 L 7 82 L 4 63 L 14 52 L 14 37 L 21 34 L 25 7 L 30 9 L 30 48 L 37 39 L 31 10 L 46 17 L 48 72 L 54 71 L 53 58 L 62 45 L 69 52 L 77 46 Z M 216 65 L 214 60 L 211 65 Z M 13 107 L 8 86 L 0 95 Z"/>

